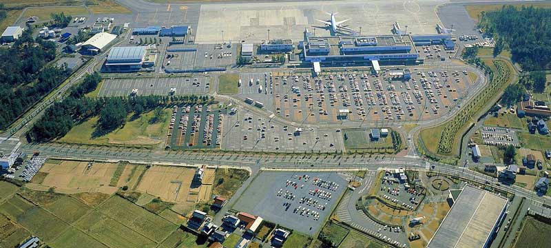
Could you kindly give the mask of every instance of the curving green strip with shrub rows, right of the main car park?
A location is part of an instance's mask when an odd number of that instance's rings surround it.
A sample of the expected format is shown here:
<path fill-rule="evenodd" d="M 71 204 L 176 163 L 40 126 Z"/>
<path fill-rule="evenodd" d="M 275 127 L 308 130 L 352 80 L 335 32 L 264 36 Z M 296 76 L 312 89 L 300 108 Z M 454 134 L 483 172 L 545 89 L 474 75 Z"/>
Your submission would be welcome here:
<path fill-rule="evenodd" d="M 433 158 L 459 154 L 462 135 L 486 111 L 488 103 L 497 101 L 505 87 L 512 81 L 513 68 L 508 61 L 494 59 L 492 63 L 495 66 L 493 79 L 481 92 L 463 105 L 449 121 L 421 130 L 419 149 L 423 154 Z"/>

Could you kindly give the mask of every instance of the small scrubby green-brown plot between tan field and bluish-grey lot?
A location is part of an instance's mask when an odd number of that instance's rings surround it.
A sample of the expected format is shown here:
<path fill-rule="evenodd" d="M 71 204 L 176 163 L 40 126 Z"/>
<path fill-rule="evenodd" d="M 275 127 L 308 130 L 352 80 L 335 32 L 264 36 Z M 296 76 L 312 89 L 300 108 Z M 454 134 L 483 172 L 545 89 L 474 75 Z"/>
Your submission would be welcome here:
<path fill-rule="evenodd" d="M 212 194 L 229 199 L 247 178 L 249 172 L 245 169 L 216 169 Z"/>

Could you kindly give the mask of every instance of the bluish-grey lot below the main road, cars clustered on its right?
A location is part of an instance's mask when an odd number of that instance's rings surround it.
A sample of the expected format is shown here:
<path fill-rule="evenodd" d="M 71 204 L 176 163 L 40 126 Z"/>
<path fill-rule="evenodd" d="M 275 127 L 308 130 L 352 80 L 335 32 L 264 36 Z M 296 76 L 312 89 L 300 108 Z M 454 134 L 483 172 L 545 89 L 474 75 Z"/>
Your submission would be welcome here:
<path fill-rule="evenodd" d="M 313 235 L 346 187 L 336 173 L 261 172 L 233 209 Z"/>

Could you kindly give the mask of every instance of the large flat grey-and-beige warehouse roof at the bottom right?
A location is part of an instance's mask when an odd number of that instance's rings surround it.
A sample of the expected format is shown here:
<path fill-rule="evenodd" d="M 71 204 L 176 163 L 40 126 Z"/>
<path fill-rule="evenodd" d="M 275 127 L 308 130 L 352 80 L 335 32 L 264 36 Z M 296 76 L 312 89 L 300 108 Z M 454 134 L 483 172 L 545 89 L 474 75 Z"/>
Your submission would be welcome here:
<path fill-rule="evenodd" d="M 438 227 L 428 247 L 486 247 L 507 199 L 467 185 Z"/>

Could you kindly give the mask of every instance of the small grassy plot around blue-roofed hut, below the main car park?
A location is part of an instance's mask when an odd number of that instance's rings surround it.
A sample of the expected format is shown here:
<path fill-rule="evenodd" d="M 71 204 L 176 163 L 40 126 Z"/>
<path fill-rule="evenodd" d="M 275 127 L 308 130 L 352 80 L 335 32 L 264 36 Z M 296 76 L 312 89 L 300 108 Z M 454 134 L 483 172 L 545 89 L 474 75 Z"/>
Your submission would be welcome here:
<path fill-rule="evenodd" d="M 371 148 L 392 148 L 393 142 L 391 134 L 386 138 L 380 138 L 379 141 L 373 142 L 369 137 L 369 130 L 349 129 L 342 130 L 344 147 L 346 149 L 371 149 Z"/>

